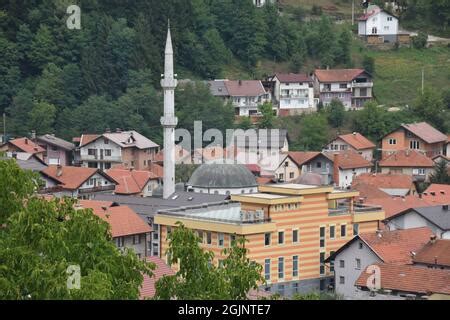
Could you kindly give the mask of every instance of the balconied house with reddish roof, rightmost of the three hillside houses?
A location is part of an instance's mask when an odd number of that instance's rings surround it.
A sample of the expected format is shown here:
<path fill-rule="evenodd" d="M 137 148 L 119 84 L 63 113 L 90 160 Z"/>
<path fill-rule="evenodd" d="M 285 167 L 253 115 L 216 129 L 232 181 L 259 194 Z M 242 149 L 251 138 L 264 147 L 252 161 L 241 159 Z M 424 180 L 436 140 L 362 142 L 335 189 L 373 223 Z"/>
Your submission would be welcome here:
<path fill-rule="evenodd" d="M 372 99 L 372 76 L 363 69 L 317 69 L 313 79 L 315 95 L 325 106 L 337 99 L 347 110 L 358 109 Z"/>

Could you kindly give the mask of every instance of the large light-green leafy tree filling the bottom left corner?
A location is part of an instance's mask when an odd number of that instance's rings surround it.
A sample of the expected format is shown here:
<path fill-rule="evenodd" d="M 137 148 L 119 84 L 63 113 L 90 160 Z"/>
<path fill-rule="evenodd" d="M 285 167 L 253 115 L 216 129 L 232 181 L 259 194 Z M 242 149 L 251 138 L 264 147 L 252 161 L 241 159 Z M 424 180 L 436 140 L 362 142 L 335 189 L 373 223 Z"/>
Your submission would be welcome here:
<path fill-rule="evenodd" d="M 0 161 L 0 299 L 137 299 L 153 264 L 119 251 L 109 224 L 74 200 L 32 195 L 36 180 L 13 160 Z M 69 266 L 81 289 L 68 288 Z"/>

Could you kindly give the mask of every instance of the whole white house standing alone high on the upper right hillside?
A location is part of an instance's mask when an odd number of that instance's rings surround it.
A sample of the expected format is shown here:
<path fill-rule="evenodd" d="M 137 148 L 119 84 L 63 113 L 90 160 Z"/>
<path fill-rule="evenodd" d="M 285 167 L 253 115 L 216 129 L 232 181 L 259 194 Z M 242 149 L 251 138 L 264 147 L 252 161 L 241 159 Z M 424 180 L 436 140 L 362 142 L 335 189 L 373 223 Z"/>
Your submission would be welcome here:
<path fill-rule="evenodd" d="M 366 39 L 379 36 L 382 42 L 397 42 L 398 18 L 377 6 L 370 6 L 367 13 L 358 19 L 358 35 Z"/>

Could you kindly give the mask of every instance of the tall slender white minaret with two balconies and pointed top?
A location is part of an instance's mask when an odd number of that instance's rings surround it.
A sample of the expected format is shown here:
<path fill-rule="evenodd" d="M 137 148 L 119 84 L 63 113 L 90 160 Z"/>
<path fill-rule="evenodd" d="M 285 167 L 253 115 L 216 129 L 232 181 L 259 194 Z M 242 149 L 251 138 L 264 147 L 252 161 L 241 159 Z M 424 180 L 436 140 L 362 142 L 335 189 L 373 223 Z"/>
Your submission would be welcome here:
<path fill-rule="evenodd" d="M 175 192 L 175 87 L 177 80 L 173 73 L 173 49 L 170 36 L 170 24 L 167 30 L 167 41 L 164 61 L 164 78 L 161 87 L 164 89 L 164 116 L 161 125 L 164 128 L 164 179 L 163 197 L 169 198 Z"/>

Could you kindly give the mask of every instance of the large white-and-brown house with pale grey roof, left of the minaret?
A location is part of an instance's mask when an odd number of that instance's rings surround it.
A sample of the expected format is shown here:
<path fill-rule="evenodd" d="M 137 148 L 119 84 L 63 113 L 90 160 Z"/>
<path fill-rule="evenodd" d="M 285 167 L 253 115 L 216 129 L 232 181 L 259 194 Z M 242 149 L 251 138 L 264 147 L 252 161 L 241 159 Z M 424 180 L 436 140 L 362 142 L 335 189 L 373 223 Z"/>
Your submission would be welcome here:
<path fill-rule="evenodd" d="M 75 150 L 75 164 L 100 170 L 123 164 L 128 168 L 146 170 L 158 151 L 159 145 L 134 130 L 84 134 Z"/>

